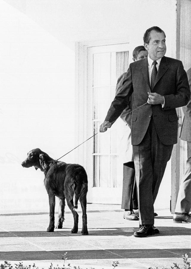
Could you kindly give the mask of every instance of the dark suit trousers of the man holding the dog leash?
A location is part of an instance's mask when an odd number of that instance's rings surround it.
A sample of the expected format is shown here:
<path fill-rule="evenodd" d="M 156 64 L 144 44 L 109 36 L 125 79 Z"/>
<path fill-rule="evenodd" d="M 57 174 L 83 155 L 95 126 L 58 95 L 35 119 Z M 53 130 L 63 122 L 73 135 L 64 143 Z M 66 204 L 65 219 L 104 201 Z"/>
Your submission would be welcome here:
<path fill-rule="evenodd" d="M 154 201 L 173 145 L 164 145 L 151 116 L 147 132 L 139 145 L 133 145 L 133 160 L 139 204 L 139 224 L 154 224 Z"/>

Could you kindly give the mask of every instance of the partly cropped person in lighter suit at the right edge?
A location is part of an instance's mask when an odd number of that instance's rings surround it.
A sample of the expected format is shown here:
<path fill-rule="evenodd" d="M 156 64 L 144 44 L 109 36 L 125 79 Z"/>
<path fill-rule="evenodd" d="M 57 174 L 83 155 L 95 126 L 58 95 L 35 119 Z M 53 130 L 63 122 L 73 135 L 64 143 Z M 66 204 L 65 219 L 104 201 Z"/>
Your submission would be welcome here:
<path fill-rule="evenodd" d="M 191 90 L 191 68 L 187 71 L 187 75 Z M 189 215 L 191 211 L 191 99 L 187 106 L 182 109 L 184 120 L 180 138 L 187 141 L 187 162 L 186 171 L 180 183 L 173 221 L 176 223 L 181 223 L 182 221 L 191 223 L 191 215 Z"/>

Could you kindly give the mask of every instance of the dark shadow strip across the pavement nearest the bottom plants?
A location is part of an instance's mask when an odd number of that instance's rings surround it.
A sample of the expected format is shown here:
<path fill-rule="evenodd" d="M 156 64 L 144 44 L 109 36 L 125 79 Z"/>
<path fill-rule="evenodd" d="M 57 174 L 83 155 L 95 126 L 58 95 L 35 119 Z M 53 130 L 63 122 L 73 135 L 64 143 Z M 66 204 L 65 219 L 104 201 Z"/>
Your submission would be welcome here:
<path fill-rule="evenodd" d="M 0 260 L 58 260 L 67 251 L 67 259 L 140 259 L 140 258 L 180 258 L 191 250 L 178 249 L 106 249 L 106 250 L 63 250 L 63 251 L 7 251 L 0 252 Z"/>

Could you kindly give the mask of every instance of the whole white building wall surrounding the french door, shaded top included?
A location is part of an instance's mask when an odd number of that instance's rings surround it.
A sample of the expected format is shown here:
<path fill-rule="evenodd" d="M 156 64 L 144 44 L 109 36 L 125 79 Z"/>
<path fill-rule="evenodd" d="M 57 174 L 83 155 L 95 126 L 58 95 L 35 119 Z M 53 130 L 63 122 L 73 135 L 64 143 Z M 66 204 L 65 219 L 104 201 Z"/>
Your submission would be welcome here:
<path fill-rule="evenodd" d="M 133 50 L 157 25 L 173 56 L 175 2 L 0 0 L 0 213 L 48 211 L 43 173 L 20 163 L 36 147 L 59 158 L 75 146 L 74 42 L 127 38 Z M 161 188 L 170 199 L 170 175 Z"/>

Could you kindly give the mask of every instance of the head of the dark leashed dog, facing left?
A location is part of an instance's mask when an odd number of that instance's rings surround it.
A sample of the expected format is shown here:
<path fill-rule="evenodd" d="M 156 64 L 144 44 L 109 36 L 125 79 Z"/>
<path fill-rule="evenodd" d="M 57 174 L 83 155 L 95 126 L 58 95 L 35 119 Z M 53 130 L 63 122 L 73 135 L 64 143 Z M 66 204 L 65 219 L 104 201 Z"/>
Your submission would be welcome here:
<path fill-rule="evenodd" d="M 41 149 L 32 149 L 27 153 L 27 158 L 21 165 L 26 168 L 34 166 L 36 170 L 39 168 L 41 171 L 45 171 L 48 168 L 50 159 L 49 155 L 41 151 Z"/>

